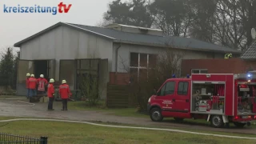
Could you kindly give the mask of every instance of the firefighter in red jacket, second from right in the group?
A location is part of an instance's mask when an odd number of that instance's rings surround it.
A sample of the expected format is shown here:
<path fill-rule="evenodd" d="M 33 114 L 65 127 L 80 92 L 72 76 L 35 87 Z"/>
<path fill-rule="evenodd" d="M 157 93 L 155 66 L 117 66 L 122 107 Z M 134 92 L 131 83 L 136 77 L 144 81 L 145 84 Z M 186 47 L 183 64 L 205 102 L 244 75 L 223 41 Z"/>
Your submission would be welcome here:
<path fill-rule="evenodd" d="M 48 84 L 48 89 L 47 89 L 47 96 L 49 98 L 48 102 L 48 110 L 54 110 L 53 105 L 54 105 L 54 79 L 51 78 Z"/>

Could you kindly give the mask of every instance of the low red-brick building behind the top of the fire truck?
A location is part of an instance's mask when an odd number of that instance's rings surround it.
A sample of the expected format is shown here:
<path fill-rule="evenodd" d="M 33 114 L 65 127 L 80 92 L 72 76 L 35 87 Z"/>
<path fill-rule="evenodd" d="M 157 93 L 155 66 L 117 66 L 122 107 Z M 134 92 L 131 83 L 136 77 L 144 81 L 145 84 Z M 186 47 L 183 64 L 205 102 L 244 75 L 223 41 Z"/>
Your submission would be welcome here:
<path fill-rule="evenodd" d="M 186 74 L 244 74 L 256 70 L 256 41 L 240 58 L 182 60 L 182 75 Z"/>

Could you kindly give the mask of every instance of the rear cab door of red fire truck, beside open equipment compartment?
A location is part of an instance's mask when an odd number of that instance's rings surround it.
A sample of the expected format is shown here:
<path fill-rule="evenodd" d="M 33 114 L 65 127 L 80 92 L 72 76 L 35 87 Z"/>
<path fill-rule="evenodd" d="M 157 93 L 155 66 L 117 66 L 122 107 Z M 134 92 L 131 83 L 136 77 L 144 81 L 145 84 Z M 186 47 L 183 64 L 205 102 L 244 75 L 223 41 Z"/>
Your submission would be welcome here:
<path fill-rule="evenodd" d="M 177 82 L 177 91 L 172 99 L 175 103 L 176 112 L 190 114 L 190 82 Z"/>

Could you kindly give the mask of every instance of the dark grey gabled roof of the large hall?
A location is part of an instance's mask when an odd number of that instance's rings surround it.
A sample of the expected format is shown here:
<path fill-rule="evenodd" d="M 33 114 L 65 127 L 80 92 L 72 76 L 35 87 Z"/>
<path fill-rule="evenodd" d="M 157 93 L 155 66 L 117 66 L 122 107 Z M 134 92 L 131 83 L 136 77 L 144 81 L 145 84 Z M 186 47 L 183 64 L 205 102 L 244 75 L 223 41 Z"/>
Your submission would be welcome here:
<path fill-rule="evenodd" d="M 110 28 L 103 28 L 97 26 L 85 26 L 78 25 L 74 23 L 65 23 L 58 22 L 54 26 L 50 26 L 46 30 L 42 30 L 38 34 L 34 34 L 29 38 L 26 38 L 20 42 L 14 44 L 16 47 L 20 47 L 22 43 L 31 40 L 32 38 L 37 37 L 40 34 L 46 33 L 46 31 L 52 30 L 57 26 L 69 26 L 71 28 L 82 30 L 90 34 L 96 34 L 105 38 L 110 38 L 113 42 L 122 42 L 130 44 L 138 44 L 144 46 L 171 46 L 178 49 L 187 49 L 187 50 L 200 50 L 200 51 L 213 51 L 218 53 L 233 53 L 241 54 L 241 51 L 231 49 L 225 46 L 218 46 L 210 42 L 203 42 L 194 38 L 182 38 L 182 37 L 173 37 L 173 36 L 157 36 L 149 34 L 134 34 L 123 32 L 119 30 L 113 30 Z"/>

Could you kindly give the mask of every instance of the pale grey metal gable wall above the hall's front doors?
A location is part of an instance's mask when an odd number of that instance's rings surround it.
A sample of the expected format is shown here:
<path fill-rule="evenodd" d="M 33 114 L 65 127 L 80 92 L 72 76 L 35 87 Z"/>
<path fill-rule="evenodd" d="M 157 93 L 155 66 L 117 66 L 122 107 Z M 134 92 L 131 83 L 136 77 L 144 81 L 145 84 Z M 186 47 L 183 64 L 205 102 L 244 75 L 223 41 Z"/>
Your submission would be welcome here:
<path fill-rule="evenodd" d="M 38 36 L 38 38 L 32 39 L 30 42 L 24 43 L 21 46 L 20 57 L 26 60 L 55 59 L 54 78 L 55 81 L 58 81 L 60 60 L 104 58 L 108 59 L 108 70 L 111 70 L 112 50 L 113 42 L 109 39 L 87 34 L 66 26 L 59 26 L 46 34 Z M 25 95 L 24 88 L 24 86 L 18 86 L 17 93 Z"/>

